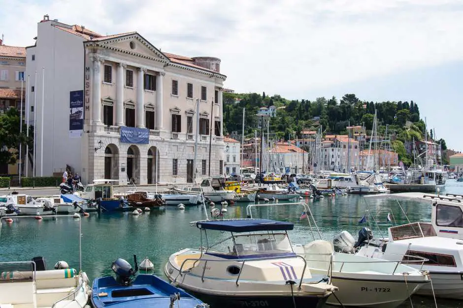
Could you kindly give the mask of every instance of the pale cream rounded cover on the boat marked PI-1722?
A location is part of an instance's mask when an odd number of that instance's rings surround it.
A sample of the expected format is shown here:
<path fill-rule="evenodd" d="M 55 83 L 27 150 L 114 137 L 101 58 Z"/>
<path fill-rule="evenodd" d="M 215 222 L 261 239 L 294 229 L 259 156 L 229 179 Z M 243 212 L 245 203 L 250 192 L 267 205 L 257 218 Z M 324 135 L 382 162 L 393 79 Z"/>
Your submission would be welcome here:
<path fill-rule="evenodd" d="M 304 258 L 309 268 L 328 270 L 330 267 L 331 253 L 334 252 L 331 242 L 316 240 L 305 244 L 303 248 L 305 254 Z"/>

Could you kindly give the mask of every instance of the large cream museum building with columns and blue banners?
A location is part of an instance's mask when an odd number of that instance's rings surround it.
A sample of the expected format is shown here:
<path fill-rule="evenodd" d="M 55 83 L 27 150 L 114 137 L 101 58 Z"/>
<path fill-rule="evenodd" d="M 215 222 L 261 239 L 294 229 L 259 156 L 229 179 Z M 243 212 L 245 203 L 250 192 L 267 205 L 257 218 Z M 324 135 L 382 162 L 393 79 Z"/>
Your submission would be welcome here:
<path fill-rule="evenodd" d="M 86 183 L 193 182 L 209 151 L 210 174 L 224 174 L 220 59 L 168 54 L 137 32 L 101 35 L 45 15 L 27 63 L 26 96 L 43 132 L 37 175 L 69 166 Z"/>

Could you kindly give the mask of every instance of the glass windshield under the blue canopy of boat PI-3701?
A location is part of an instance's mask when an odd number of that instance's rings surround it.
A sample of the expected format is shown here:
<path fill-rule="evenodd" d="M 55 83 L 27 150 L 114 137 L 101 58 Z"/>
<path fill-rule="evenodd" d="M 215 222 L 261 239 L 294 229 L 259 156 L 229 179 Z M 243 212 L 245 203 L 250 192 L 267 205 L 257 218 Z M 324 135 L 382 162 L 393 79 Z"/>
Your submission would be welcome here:
<path fill-rule="evenodd" d="M 231 237 L 209 247 L 208 252 L 234 257 L 249 257 L 279 253 L 293 253 L 287 233 L 232 234 Z"/>

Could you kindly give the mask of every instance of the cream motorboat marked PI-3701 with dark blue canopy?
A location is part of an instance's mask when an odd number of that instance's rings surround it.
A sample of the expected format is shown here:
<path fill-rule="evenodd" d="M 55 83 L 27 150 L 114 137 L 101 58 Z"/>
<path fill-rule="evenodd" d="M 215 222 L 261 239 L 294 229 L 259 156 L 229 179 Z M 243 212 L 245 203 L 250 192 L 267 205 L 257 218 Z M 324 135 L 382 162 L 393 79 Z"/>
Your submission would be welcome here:
<path fill-rule="evenodd" d="M 294 224 L 236 219 L 194 225 L 201 232 L 200 249 L 173 253 L 164 273 L 212 307 L 321 307 L 337 290 L 292 251 L 287 231 Z M 211 243 L 207 236 L 214 231 L 227 235 Z"/>

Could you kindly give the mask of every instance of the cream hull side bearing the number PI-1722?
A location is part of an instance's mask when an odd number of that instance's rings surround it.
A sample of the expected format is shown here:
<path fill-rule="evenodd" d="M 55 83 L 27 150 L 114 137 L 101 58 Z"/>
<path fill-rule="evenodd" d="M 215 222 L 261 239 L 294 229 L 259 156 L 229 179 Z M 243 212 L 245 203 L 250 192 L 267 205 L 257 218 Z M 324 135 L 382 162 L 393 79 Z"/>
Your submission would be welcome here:
<path fill-rule="evenodd" d="M 429 283 L 387 281 L 387 280 L 356 280 L 333 277 L 331 282 L 339 288 L 336 297 L 330 296 L 327 304 L 354 307 L 396 308 L 408 297 Z"/>

